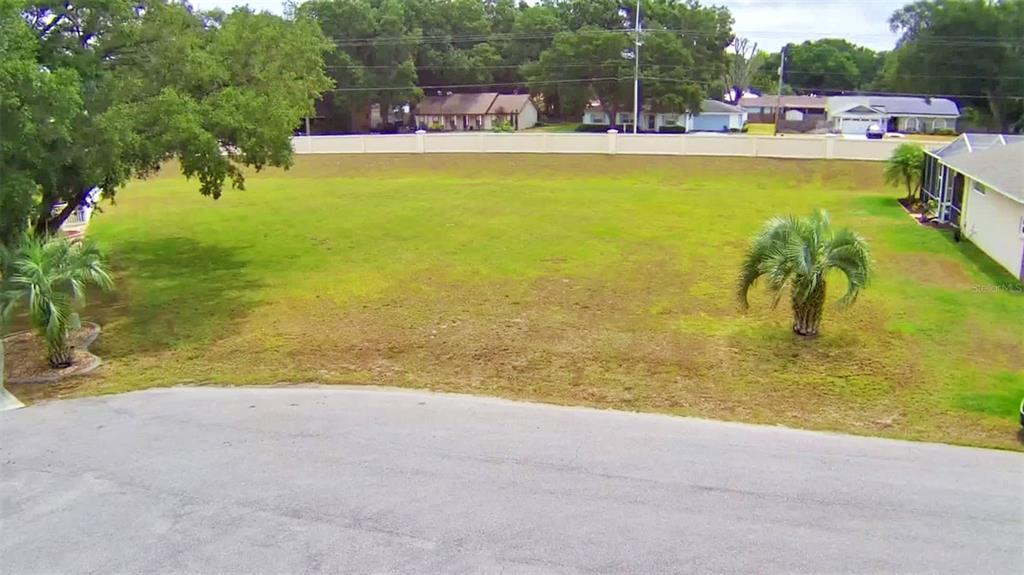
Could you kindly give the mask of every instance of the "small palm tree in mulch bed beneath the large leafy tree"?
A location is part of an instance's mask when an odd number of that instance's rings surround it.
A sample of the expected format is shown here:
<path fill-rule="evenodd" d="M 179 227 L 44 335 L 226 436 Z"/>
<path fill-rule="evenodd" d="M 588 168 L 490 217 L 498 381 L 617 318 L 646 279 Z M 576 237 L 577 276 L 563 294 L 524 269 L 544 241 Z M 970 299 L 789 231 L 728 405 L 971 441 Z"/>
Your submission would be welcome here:
<path fill-rule="evenodd" d="M 72 363 L 71 330 L 78 326 L 75 304 L 85 299 L 88 284 L 109 290 L 113 282 L 99 250 L 89 240 L 72 242 L 62 235 L 27 236 L 5 256 L 0 304 L 9 310 L 25 300 L 29 316 L 46 342 L 53 367 Z"/>

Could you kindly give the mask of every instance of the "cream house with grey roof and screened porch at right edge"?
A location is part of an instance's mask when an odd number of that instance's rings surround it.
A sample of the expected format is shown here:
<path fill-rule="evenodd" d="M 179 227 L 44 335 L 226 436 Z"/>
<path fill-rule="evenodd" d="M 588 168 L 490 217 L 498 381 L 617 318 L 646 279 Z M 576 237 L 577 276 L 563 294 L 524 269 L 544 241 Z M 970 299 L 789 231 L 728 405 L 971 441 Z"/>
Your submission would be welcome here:
<path fill-rule="evenodd" d="M 1024 136 L 963 134 L 928 151 L 922 189 L 939 221 L 1024 280 Z"/>

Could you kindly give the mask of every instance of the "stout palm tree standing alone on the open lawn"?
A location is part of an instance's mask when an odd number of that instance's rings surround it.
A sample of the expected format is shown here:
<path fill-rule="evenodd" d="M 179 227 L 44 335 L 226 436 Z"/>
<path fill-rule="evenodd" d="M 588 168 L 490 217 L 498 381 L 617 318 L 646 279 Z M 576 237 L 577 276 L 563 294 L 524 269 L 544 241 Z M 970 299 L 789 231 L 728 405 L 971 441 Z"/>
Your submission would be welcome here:
<path fill-rule="evenodd" d="M 775 217 L 746 253 L 737 295 L 748 307 L 746 295 L 763 276 L 774 308 L 788 288 L 793 330 L 814 336 L 821 324 L 826 276 L 834 269 L 846 275 L 847 290 L 840 303 L 850 305 L 871 274 L 870 252 L 863 237 L 846 228 L 834 231 L 823 210 L 807 218 Z"/>

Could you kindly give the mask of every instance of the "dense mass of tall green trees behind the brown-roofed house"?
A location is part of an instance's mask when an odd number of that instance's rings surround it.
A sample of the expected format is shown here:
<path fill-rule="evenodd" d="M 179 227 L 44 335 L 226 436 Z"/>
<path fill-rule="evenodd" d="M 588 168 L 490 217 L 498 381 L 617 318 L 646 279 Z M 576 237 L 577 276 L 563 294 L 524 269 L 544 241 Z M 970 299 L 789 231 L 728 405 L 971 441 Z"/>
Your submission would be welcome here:
<path fill-rule="evenodd" d="M 343 130 L 370 104 L 383 112 L 449 89 L 529 90 L 555 116 L 577 116 L 592 99 L 632 106 L 623 79 L 633 77 L 634 10 L 624 0 L 311 0 L 298 8 L 337 47 L 328 56 L 339 86 L 331 128 Z M 723 86 L 728 10 L 643 0 L 641 21 L 646 99 L 696 106 Z"/>

